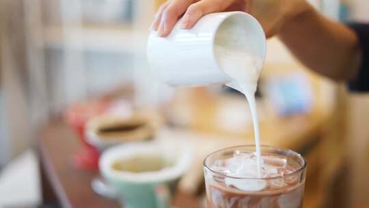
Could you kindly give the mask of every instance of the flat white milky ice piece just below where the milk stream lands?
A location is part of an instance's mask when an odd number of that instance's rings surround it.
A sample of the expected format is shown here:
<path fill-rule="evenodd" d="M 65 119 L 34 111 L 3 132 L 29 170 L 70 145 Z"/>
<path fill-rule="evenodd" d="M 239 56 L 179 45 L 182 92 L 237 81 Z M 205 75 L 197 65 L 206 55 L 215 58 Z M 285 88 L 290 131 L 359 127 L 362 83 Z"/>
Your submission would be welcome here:
<path fill-rule="evenodd" d="M 262 179 L 233 179 L 226 178 L 227 185 L 233 185 L 239 190 L 257 192 L 264 190 L 267 186 L 267 182 Z"/>

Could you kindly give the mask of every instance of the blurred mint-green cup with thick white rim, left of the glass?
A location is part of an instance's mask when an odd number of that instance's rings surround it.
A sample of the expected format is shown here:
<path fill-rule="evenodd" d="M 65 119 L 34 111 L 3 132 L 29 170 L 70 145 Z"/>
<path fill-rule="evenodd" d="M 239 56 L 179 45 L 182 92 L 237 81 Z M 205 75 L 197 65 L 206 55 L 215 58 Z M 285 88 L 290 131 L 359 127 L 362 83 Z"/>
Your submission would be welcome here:
<path fill-rule="evenodd" d="M 192 155 L 177 141 L 126 144 L 102 153 L 99 168 L 111 189 L 108 196 L 118 198 L 124 207 L 169 208 L 178 181 L 191 168 Z M 114 168 L 117 162 L 123 170 Z M 156 165 L 161 170 L 148 169 Z M 142 172 L 133 171 L 137 168 Z"/>

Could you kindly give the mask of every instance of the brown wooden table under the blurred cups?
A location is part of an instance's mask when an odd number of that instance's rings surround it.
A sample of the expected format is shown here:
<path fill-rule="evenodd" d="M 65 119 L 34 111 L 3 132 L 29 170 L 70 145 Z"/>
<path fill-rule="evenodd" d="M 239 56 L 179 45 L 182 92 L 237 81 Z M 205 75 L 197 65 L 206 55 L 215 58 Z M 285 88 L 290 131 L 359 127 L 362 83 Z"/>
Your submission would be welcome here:
<path fill-rule="evenodd" d="M 120 207 L 115 200 L 98 196 L 91 181 L 98 172 L 78 170 L 72 164 L 72 154 L 81 144 L 72 131 L 59 119 L 52 120 L 40 131 L 40 170 L 44 203 L 60 203 L 62 207 Z M 176 193 L 177 208 L 201 207 L 200 200 Z"/>

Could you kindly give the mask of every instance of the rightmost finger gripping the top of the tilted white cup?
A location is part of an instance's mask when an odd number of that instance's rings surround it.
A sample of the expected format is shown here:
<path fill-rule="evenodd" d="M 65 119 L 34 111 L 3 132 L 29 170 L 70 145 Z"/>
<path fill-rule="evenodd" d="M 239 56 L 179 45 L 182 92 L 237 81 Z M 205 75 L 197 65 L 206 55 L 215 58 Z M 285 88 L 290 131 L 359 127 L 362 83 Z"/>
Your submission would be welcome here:
<path fill-rule="evenodd" d="M 232 0 L 202 0 L 193 3 L 184 14 L 180 22 L 180 27 L 182 29 L 189 29 L 205 14 L 226 10 L 233 2 Z"/>

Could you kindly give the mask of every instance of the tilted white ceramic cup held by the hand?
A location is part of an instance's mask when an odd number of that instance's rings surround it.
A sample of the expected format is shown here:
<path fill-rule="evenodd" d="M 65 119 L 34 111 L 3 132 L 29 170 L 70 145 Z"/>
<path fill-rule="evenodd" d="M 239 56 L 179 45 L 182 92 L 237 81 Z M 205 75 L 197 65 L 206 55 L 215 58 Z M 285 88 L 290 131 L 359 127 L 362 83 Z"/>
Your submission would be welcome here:
<path fill-rule="evenodd" d="M 226 38 L 221 32 L 223 24 L 229 24 L 232 31 Z M 191 29 L 180 29 L 176 24 L 165 38 L 152 31 L 147 52 L 154 76 L 170 86 L 226 84 L 239 90 L 219 67 L 215 55 L 217 38 L 223 38 L 226 47 L 236 47 L 265 60 L 266 38 L 256 18 L 245 12 L 219 12 L 203 16 Z"/>

